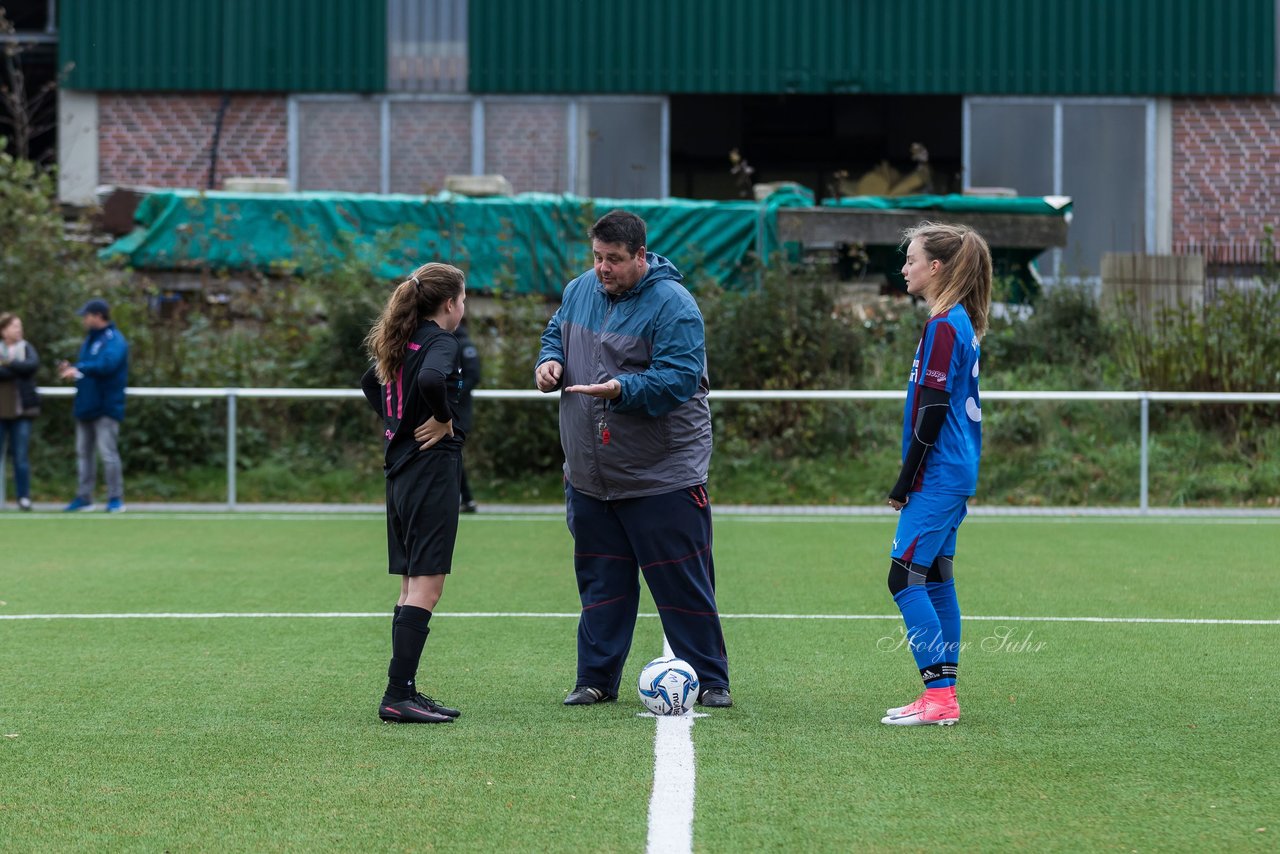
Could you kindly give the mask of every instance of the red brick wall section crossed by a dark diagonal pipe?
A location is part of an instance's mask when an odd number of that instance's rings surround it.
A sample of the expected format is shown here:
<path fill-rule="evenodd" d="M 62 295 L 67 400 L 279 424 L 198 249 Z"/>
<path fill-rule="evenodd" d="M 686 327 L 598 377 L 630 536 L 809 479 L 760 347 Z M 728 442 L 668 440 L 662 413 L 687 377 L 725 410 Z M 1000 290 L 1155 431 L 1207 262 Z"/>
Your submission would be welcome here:
<path fill-rule="evenodd" d="M 220 95 L 101 95 L 99 182 L 207 187 L 220 105 Z M 287 174 L 284 96 L 233 96 L 218 143 L 218 187 L 232 177 L 284 178 Z"/>

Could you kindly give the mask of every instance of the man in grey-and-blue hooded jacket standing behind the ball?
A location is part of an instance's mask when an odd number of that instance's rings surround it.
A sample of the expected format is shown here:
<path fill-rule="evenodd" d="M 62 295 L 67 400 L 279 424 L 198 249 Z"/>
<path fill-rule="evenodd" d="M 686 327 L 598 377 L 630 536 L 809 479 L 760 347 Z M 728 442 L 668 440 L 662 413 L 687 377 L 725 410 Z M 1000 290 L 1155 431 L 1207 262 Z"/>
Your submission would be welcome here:
<path fill-rule="evenodd" d="M 564 288 L 534 371 L 563 389 L 564 501 L 582 612 L 566 705 L 614 700 L 640 606 L 637 570 L 699 703 L 732 705 L 716 608 L 703 316 L 684 277 L 623 210 L 588 232 L 595 266 Z"/>

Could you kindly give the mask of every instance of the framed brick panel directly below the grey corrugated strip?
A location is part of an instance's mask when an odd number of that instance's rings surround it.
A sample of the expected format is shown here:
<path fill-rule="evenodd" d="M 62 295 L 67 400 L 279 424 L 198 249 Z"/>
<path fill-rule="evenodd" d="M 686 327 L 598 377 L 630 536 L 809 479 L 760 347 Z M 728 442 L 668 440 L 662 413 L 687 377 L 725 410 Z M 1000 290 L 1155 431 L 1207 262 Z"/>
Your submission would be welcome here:
<path fill-rule="evenodd" d="M 431 195 L 471 174 L 471 102 L 393 101 L 390 191 Z"/>

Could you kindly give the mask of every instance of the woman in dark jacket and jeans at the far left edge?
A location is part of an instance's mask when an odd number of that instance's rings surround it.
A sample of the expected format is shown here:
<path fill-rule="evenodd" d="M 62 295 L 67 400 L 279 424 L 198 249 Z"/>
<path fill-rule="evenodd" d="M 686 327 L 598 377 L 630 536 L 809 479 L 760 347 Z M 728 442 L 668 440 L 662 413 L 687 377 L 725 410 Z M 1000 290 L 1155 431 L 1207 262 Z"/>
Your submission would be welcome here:
<path fill-rule="evenodd" d="M 40 393 L 36 369 L 40 353 L 22 337 L 22 318 L 0 314 L 0 478 L 4 476 L 4 455 L 13 457 L 14 490 L 18 508 L 31 510 L 31 420 L 40 415 Z"/>

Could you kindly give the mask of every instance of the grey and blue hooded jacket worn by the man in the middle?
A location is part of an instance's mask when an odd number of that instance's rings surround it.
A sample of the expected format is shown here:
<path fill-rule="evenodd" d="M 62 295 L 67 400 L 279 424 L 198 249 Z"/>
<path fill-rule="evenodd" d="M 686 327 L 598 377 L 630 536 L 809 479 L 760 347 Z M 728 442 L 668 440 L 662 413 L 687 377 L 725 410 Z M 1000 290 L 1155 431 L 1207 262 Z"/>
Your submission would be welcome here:
<path fill-rule="evenodd" d="M 616 297 L 594 268 L 570 282 L 538 355 L 563 366 L 562 388 L 622 385 L 613 401 L 561 396 L 564 476 L 604 501 L 704 484 L 710 465 L 703 315 L 671 261 L 645 261 L 644 278 Z"/>

